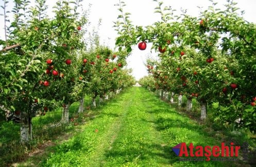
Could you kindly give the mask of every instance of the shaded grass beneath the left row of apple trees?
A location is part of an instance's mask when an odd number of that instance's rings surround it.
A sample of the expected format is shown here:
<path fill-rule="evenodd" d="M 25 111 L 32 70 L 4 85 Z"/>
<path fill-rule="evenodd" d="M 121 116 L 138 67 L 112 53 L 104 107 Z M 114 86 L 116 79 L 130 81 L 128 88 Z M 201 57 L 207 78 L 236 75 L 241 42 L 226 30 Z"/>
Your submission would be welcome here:
<path fill-rule="evenodd" d="M 84 107 L 90 104 L 91 99 L 86 97 Z M 71 105 L 70 117 L 77 115 L 78 107 L 79 102 Z M 53 124 L 57 124 L 61 120 L 61 116 L 62 107 L 47 112 L 45 116 L 34 117 L 32 119 L 33 139 L 27 145 L 20 144 L 20 124 L 12 121 L 0 122 L 0 166 L 22 161 L 26 159 L 30 151 L 35 150 L 46 141 L 56 140 L 62 133 L 72 131 L 74 126 L 71 125 L 52 127 Z"/>

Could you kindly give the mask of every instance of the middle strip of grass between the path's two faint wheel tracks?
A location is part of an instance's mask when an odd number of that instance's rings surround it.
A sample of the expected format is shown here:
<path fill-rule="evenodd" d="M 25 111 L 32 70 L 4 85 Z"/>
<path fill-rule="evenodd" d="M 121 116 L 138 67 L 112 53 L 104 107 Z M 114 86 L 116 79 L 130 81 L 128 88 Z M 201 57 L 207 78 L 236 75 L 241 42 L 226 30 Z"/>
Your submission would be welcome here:
<path fill-rule="evenodd" d="M 106 153 L 104 166 L 172 166 L 150 113 L 155 103 L 148 103 L 149 94 L 141 88 L 134 87 L 132 91 L 132 105 L 113 149 Z"/>

